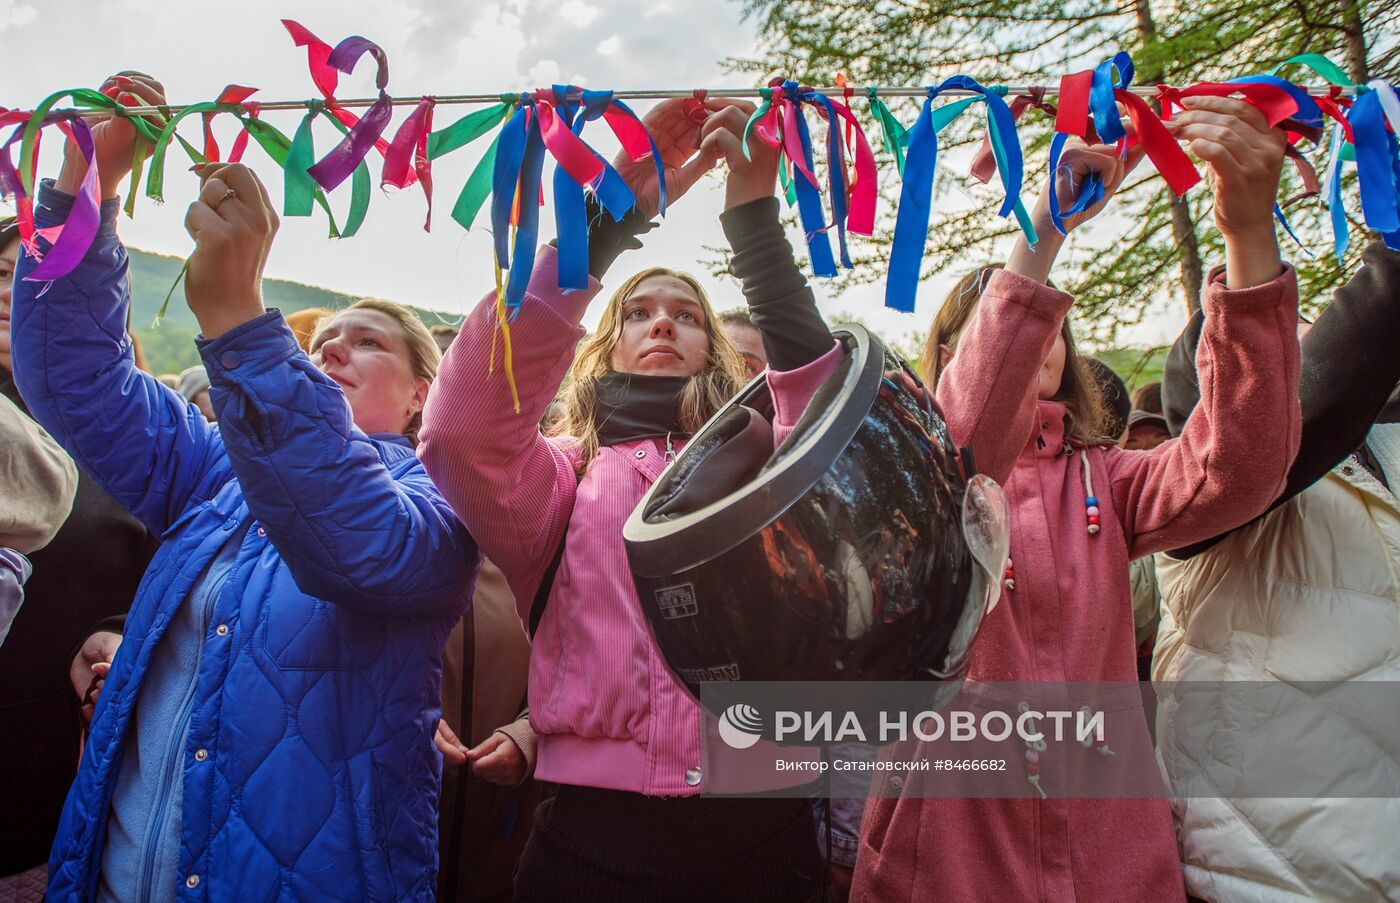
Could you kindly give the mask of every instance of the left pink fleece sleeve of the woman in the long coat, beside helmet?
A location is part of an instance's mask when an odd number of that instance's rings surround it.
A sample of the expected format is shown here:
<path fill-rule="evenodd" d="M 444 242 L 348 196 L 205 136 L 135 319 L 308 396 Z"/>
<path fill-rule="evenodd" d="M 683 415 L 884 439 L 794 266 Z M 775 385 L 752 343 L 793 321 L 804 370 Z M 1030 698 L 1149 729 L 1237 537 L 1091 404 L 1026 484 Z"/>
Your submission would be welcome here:
<path fill-rule="evenodd" d="M 1033 279 L 997 270 L 938 379 L 938 406 L 979 473 L 1005 483 L 1035 428 L 1040 367 L 1074 302 Z"/>

